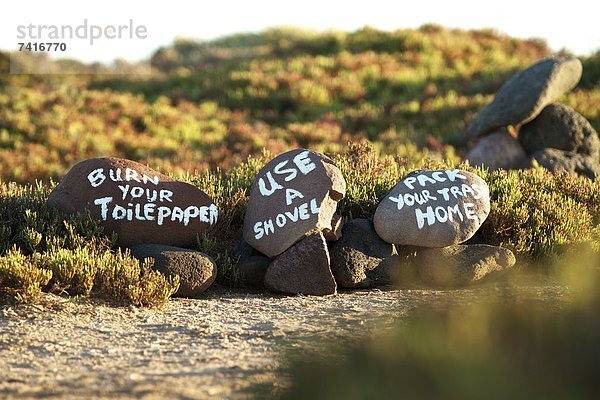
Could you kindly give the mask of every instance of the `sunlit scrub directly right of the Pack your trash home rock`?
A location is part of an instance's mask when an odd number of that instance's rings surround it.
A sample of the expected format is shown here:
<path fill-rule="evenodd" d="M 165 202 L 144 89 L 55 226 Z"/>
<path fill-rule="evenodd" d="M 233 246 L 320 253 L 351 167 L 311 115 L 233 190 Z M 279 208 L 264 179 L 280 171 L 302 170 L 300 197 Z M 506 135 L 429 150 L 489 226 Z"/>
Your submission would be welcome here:
<path fill-rule="evenodd" d="M 600 182 L 542 168 L 480 175 L 491 198 L 490 215 L 480 230 L 486 243 L 533 258 L 569 244 L 598 246 Z"/>

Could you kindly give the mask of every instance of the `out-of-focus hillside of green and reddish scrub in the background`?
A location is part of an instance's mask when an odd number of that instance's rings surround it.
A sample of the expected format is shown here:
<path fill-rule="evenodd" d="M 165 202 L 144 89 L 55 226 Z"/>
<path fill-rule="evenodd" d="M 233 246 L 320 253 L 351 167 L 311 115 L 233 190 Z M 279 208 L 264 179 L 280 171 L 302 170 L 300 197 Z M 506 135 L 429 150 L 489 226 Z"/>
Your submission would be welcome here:
<path fill-rule="evenodd" d="M 153 55 L 154 74 L 144 79 L 6 73 L 0 179 L 47 182 L 99 156 L 179 175 L 230 169 L 263 147 L 341 152 L 365 138 L 388 154 L 428 147 L 447 158 L 464 150 L 461 132 L 503 81 L 549 54 L 543 42 L 439 26 L 271 29 L 177 40 Z M 6 59 L 0 54 L 0 70 Z M 598 58 L 584 62 L 590 74 L 565 101 L 598 129 Z M 52 70 L 68 69 L 57 63 Z"/>

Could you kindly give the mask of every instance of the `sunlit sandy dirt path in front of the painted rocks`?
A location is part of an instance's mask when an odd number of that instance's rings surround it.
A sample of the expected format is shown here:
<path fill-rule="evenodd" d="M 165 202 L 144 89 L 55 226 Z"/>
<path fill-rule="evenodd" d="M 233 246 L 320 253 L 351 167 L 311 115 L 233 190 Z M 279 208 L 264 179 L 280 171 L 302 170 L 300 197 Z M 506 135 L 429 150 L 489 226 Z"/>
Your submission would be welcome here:
<path fill-rule="evenodd" d="M 252 398 L 257 388 L 276 397 L 288 383 L 285 355 L 316 338 L 380 332 L 424 305 L 518 295 L 560 306 L 568 294 L 548 282 L 328 297 L 215 287 L 161 310 L 48 295 L 0 309 L 0 398 Z"/>

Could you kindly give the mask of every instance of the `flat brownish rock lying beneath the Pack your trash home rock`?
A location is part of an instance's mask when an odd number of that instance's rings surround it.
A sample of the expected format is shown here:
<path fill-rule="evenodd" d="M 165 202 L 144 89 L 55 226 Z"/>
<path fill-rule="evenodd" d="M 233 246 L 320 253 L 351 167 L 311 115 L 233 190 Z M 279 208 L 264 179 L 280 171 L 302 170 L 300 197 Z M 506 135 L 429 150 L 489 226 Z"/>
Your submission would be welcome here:
<path fill-rule="evenodd" d="M 421 249 L 415 263 L 421 280 L 443 287 L 467 286 L 510 269 L 515 255 L 509 249 L 485 244 Z"/>

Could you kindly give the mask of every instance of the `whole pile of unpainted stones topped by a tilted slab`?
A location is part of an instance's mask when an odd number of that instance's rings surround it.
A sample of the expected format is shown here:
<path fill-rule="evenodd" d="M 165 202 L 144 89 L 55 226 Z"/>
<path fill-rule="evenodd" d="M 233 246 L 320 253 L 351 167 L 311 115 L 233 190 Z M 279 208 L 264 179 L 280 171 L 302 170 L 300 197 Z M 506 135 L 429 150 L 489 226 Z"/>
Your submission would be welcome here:
<path fill-rule="evenodd" d="M 491 170 L 527 168 L 535 161 L 553 172 L 596 179 L 598 133 L 577 111 L 556 103 L 581 74 L 581 62 L 567 57 L 546 58 L 517 73 L 469 125 L 467 136 L 477 142 L 466 159 Z"/>

